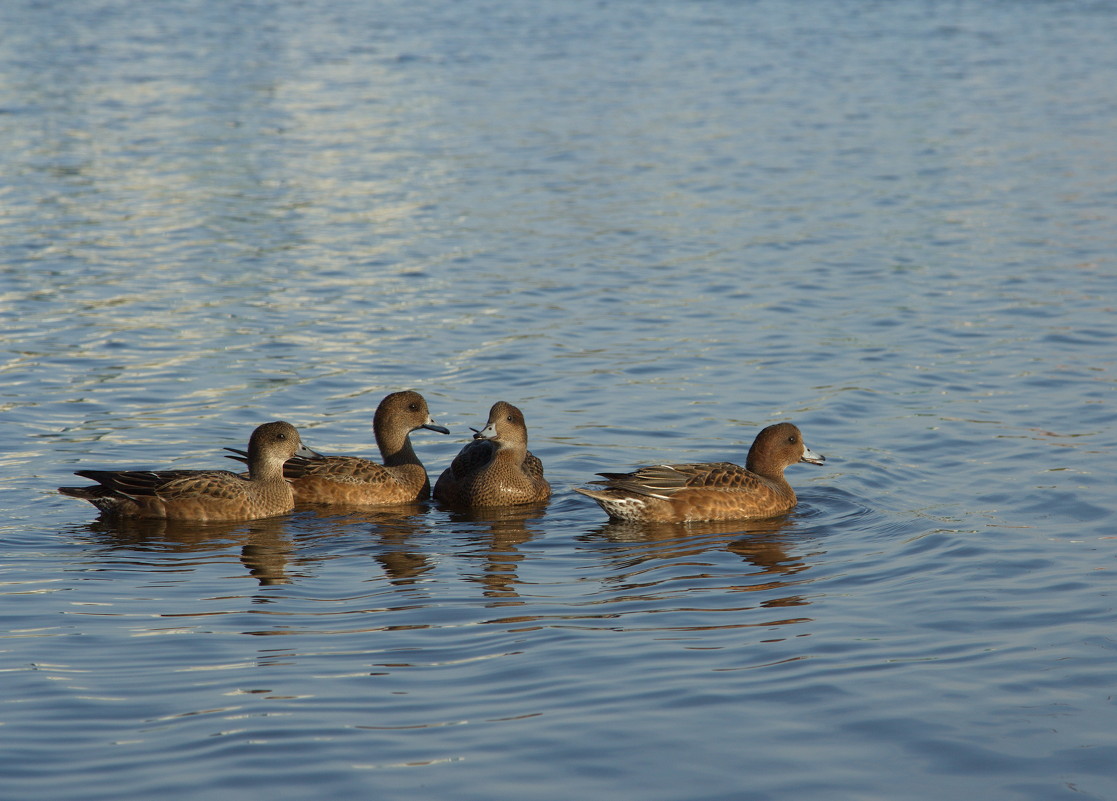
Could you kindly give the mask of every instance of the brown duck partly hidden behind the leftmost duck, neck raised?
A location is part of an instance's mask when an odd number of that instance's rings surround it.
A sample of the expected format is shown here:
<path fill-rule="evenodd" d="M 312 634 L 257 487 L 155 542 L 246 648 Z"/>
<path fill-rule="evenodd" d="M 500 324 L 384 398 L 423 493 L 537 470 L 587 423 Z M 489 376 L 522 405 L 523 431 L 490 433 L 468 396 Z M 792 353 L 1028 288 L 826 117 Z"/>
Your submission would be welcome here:
<path fill-rule="evenodd" d="M 383 464 L 359 456 L 296 456 L 284 465 L 295 503 L 383 506 L 426 500 L 430 497 L 430 478 L 411 447 L 411 432 L 421 428 L 450 432 L 431 419 L 427 400 L 418 392 L 385 395 L 372 419 Z"/>

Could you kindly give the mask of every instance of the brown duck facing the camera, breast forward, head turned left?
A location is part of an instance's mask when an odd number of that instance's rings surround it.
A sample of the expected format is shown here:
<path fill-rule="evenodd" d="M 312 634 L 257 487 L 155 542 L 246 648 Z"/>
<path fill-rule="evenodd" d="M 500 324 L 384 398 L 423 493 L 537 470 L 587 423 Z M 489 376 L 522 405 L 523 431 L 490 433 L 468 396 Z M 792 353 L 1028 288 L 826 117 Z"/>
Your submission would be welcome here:
<path fill-rule="evenodd" d="M 515 506 L 551 497 L 543 463 L 527 449 L 524 413 L 507 401 L 489 410 L 485 428 L 438 477 L 435 498 L 458 507 Z"/>

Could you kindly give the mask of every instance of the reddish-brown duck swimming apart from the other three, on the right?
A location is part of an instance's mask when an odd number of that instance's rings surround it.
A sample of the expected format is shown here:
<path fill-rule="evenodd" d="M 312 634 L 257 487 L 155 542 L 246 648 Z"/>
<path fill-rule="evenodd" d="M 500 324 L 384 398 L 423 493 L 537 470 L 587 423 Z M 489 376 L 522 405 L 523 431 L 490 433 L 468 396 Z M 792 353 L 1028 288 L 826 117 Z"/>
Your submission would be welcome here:
<path fill-rule="evenodd" d="M 651 465 L 632 473 L 599 473 L 602 488 L 575 487 L 614 521 L 690 523 L 776 517 L 794 508 L 795 490 L 783 476 L 799 463 L 822 465 L 825 457 L 803 444 L 790 422 L 756 435 L 745 466 L 729 461 Z"/>

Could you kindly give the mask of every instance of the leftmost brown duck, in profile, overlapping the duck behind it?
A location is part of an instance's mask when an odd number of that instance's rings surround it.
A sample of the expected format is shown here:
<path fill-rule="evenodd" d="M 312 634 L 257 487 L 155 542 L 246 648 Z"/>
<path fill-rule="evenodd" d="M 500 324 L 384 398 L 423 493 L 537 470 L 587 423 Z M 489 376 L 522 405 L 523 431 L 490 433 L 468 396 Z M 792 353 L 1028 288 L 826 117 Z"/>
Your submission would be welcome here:
<path fill-rule="evenodd" d="M 251 521 L 290 512 L 295 498 L 284 463 L 319 455 L 289 422 L 267 422 L 248 440 L 248 475 L 231 470 L 76 470 L 96 481 L 58 492 L 88 500 L 108 517 L 195 523 Z"/>

